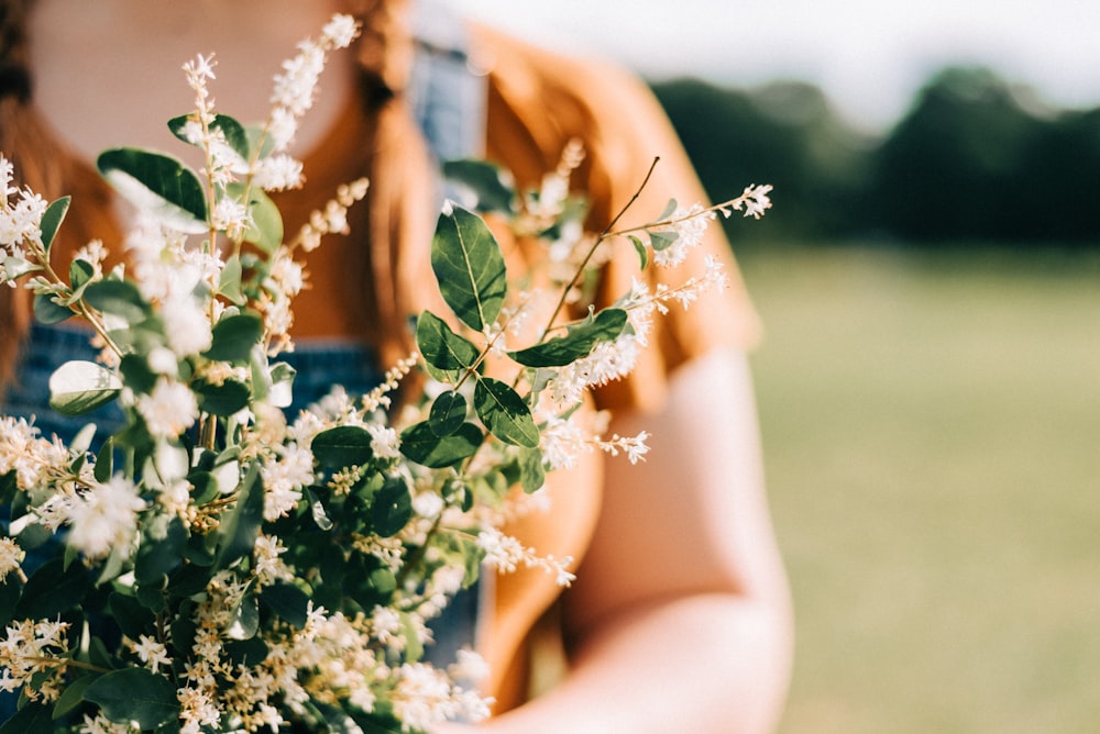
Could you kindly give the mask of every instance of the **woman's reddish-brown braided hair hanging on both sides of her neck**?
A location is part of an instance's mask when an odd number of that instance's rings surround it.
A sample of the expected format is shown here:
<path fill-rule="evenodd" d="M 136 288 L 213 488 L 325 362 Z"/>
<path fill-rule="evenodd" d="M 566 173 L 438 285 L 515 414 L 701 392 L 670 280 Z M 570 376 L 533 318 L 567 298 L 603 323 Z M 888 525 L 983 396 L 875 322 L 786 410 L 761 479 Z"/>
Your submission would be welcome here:
<path fill-rule="evenodd" d="M 0 152 L 12 162 L 18 180 L 47 200 L 74 194 L 70 213 L 58 234 L 58 249 L 92 237 L 108 246 L 121 242 L 110 214 L 111 193 L 94 171 L 66 154 L 36 112 L 33 74 L 28 65 L 26 15 L 33 0 L 0 0 Z M 428 158 L 419 129 L 404 103 L 413 63 L 407 0 L 349 0 L 349 11 L 362 25 L 355 54 L 361 69 L 362 99 L 373 120 L 371 138 L 362 141 L 371 187 L 364 204 L 365 227 L 353 236 L 353 267 L 364 283 L 364 334 L 377 342 L 383 364 L 408 353 L 405 316 L 411 311 L 413 263 L 408 242 L 430 236 L 425 197 L 407 196 L 431 186 Z M 430 198 L 427 200 L 430 203 Z M 64 244 L 67 243 L 67 244 Z M 32 319 L 24 289 L 0 288 L 0 394 L 14 377 L 20 344 Z"/>

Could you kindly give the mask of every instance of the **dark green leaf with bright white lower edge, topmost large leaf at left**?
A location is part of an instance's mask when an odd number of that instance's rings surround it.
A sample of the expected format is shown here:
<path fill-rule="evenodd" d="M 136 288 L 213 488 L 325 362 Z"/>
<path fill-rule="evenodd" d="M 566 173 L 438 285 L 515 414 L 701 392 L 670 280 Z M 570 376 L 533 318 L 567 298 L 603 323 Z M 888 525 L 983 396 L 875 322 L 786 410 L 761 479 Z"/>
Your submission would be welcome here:
<path fill-rule="evenodd" d="M 112 148 L 97 158 L 99 173 L 122 196 L 180 232 L 207 231 L 207 201 L 198 175 L 162 153 Z"/>

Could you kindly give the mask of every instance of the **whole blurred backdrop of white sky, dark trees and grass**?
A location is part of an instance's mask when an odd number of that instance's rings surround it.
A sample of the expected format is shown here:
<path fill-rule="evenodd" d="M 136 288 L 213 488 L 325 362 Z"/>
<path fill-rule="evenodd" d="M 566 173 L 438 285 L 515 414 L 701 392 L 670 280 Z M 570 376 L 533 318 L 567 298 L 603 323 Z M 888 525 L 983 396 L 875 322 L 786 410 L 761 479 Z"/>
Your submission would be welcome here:
<path fill-rule="evenodd" d="M 1100 3 L 462 0 L 652 85 L 730 240 L 782 732 L 1100 726 Z M 701 114 L 701 110 L 706 110 Z"/>

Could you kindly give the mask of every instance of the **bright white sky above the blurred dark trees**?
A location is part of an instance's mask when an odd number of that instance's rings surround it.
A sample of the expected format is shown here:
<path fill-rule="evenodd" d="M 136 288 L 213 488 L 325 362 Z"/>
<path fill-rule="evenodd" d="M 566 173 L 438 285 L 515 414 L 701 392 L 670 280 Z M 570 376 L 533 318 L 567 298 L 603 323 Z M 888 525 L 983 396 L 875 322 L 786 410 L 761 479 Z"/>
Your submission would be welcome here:
<path fill-rule="evenodd" d="M 1057 107 L 1100 105 L 1098 0 L 452 0 L 544 46 L 649 78 L 820 85 L 854 125 L 889 126 L 934 70 L 983 64 Z"/>

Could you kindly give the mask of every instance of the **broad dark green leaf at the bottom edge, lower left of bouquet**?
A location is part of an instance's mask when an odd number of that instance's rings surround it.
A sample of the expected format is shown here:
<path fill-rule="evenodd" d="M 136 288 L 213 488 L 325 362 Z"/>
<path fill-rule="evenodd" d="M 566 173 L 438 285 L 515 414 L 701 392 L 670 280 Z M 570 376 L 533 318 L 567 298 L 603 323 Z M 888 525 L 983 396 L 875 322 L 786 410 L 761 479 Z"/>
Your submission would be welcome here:
<path fill-rule="evenodd" d="M 102 709 L 111 721 L 136 721 L 141 729 L 155 729 L 179 715 L 175 685 L 145 668 L 124 668 L 100 676 L 88 686 L 84 698 Z"/>

